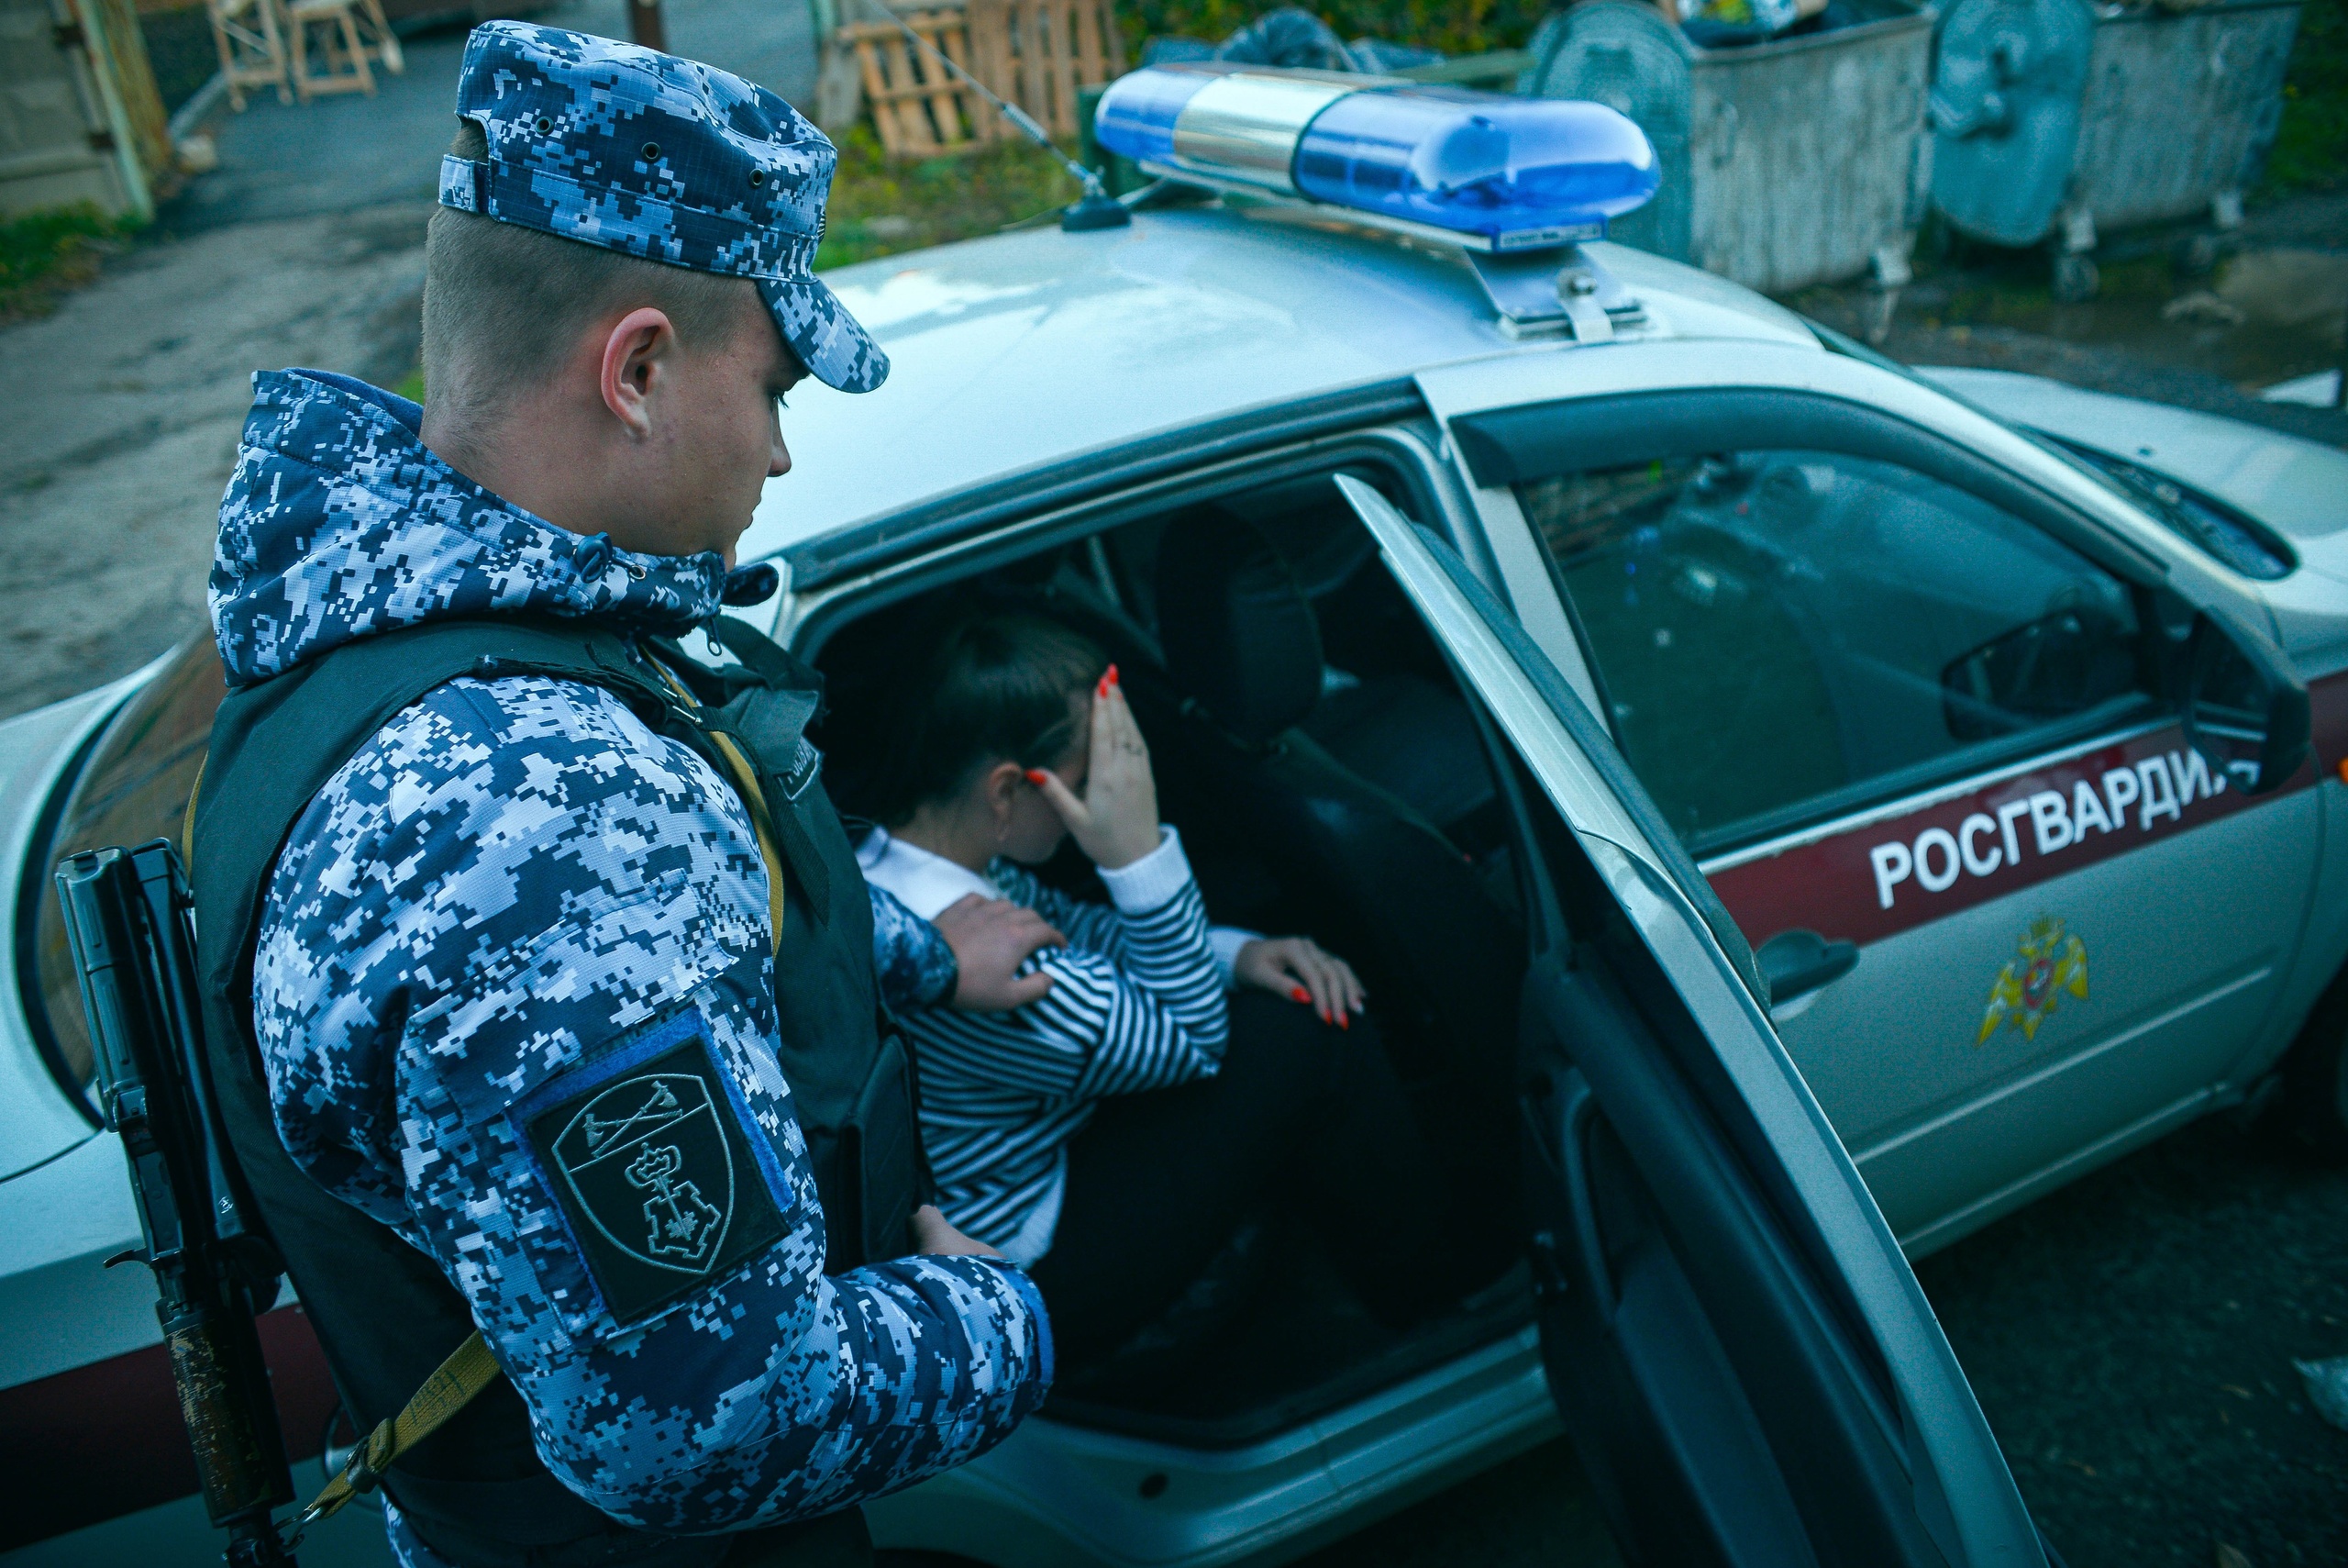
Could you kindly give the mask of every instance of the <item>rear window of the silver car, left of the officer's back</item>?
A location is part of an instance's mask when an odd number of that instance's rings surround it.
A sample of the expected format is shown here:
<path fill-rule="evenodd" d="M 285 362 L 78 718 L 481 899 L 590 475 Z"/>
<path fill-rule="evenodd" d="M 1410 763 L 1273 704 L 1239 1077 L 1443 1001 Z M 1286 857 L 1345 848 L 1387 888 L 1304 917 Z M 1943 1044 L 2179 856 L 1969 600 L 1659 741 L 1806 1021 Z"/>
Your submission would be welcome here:
<path fill-rule="evenodd" d="M 31 922 L 33 979 L 23 1002 L 33 1040 L 68 1094 L 85 1094 L 96 1068 L 56 878 L 49 873 L 80 850 L 178 840 L 188 796 L 211 742 L 211 714 L 225 692 L 211 638 L 200 636 L 181 648 L 106 725 L 73 779 L 49 847 L 28 861 L 35 885 L 23 892 L 28 904 L 38 901 L 40 913 Z"/>

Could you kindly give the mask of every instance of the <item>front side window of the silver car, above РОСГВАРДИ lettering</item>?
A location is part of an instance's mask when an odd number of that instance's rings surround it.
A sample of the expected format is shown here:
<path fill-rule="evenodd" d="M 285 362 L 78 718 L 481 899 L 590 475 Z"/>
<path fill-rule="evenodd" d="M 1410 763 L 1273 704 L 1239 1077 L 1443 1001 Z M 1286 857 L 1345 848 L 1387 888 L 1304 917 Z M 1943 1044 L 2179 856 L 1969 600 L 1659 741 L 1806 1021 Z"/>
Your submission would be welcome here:
<path fill-rule="evenodd" d="M 1615 737 L 1691 850 L 2144 702 L 2127 584 L 1897 462 L 1761 448 L 1514 491 Z"/>

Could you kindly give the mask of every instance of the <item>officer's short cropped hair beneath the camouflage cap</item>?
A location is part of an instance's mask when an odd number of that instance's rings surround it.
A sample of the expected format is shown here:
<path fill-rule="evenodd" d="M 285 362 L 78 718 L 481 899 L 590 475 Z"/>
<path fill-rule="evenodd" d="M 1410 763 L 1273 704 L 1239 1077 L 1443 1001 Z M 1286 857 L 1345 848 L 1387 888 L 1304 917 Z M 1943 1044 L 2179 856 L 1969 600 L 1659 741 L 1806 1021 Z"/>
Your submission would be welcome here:
<path fill-rule="evenodd" d="M 488 138 L 465 120 L 448 150 L 486 157 Z M 747 319 L 747 298 L 756 298 L 747 277 L 437 207 L 425 230 L 425 394 L 460 399 L 467 408 L 458 413 L 488 413 L 502 392 L 552 376 L 578 336 L 613 310 L 650 305 L 681 343 L 700 345 Z"/>

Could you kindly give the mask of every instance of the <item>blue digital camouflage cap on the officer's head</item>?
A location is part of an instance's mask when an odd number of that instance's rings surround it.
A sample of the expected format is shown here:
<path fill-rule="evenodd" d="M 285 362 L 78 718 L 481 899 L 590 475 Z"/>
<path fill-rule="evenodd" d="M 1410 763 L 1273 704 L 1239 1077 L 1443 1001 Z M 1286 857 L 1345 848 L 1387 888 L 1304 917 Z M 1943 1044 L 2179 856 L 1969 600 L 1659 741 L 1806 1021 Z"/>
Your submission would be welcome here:
<path fill-rule="evenodd" d="M 838 153 L 796 108 L 697 61 L 484 21 L 456 113 L 488 157 L 441 160 L 441 207 L 758 282 L 817 380 L 871 392 L 888 354 L 815 272 Z"/>

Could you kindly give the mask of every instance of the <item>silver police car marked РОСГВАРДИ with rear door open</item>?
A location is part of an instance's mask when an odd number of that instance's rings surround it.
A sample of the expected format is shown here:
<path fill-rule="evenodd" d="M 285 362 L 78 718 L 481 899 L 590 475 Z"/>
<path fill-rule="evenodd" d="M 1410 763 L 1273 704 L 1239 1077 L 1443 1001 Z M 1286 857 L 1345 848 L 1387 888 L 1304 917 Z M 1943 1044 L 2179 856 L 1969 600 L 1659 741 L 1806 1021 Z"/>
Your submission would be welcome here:
<path fill-rule="evenodd" d="M 1397 1336 L 1273 1235 L 1188 1371 L 876 1537 L 1282 1561 L 1561 1425 L 1644 1561 L 2043 1561 L 1907 1256 L 2221 1106 L 2348 1145 L 2348 458 L 1592 239 L 1653 155 L 1590 106 L 1127 85 L 1132 223 L 831 277 L 895 373 L 794 397 L 754 615 L 836 695 L 939 594 L 1104 638 L 1219 920 L 1522 1042 L 1526 1268 Z M 218 697 L 200 641 L 0 728 L 0 1530 L 54 1561 L 211 1549 L 49 869 L 178 831 Z"/>

